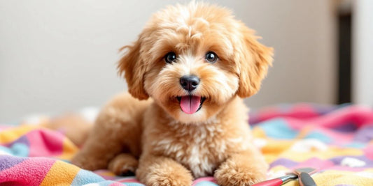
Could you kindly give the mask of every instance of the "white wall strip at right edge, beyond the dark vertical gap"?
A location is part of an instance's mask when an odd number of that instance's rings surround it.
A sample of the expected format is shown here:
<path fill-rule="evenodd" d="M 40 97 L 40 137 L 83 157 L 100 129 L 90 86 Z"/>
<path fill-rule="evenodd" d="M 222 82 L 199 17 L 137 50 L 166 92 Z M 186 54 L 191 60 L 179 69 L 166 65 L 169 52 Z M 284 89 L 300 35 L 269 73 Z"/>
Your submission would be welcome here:
<path fill-rule="evenodd" d="M 373 1 L 353 2 L 353 102 L 373 106 Z"/>

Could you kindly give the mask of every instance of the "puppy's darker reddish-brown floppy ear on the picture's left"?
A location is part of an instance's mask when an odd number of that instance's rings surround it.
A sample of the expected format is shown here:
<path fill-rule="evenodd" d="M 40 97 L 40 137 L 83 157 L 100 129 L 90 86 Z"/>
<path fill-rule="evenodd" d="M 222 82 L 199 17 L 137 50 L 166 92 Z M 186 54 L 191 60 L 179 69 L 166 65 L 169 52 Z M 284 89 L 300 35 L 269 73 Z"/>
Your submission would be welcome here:
<path fill-rule="evenodd" d="M 124 56 L 118 62 L 118 74 L 123 76 L 127 81 L 128 92 L 134 98 L 139 100 L 146 100 L 149 98 L 143 88 L 143 76 L 145 75 L 145 68 L 143 67 L 143 60 L 140 54 L 141 42 L 137 40 L 133 45 L 127 45 L 120 49 L 124 52 Z"/>

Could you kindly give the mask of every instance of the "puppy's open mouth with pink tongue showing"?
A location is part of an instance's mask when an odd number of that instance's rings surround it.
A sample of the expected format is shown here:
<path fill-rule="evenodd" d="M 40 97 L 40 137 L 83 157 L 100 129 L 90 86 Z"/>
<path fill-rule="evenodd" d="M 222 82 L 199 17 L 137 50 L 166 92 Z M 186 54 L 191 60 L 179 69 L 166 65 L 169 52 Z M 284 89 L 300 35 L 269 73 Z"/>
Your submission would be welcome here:
<path fill-rule="evenodd" d="M 178 96 L 176 99 L 180 103 L 181 110 L 186 114 L 195 114 L 206 100 L 206 98 L 197 95 Z"/>

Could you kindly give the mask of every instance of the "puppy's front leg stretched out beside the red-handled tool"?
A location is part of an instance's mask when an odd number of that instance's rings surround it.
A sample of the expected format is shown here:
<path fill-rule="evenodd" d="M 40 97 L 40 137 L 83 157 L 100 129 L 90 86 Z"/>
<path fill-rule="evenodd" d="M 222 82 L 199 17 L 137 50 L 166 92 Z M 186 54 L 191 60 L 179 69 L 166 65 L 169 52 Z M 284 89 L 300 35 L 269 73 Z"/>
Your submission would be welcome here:
<path fill-rule="evenodd" d="M 268 164 L 259 150 L 251 149 L 230 157 L 215 171 L 219 185 L 253 185 L 265 180 Z"/>

